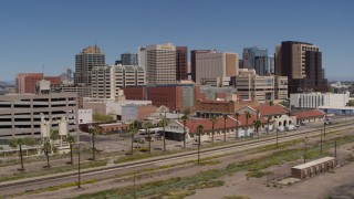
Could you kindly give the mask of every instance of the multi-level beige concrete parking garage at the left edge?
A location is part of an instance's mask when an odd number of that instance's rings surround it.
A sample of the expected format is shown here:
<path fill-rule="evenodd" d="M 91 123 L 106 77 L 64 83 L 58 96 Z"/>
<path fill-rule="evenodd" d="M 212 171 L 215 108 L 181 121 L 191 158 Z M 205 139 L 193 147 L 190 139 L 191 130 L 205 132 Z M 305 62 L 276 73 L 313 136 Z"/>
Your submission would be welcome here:
<path fill-rule="evenodd" d="M 0 142 L 19 137 L 41 137 L 41 118 L 58 121 L 67 118 L 67 130 L 77 130 L 76 94 L 10 94 L 0 96 Z"/>

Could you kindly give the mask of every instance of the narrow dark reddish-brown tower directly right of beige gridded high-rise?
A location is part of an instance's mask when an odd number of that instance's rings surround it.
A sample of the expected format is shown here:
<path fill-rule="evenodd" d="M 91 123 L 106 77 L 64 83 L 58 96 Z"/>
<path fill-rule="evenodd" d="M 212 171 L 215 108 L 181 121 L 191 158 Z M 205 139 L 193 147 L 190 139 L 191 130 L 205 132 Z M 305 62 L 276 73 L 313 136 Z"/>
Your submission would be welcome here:
<path fill-rule="evenodd" d="M 188 72 L 188 49 L 187 46 L 176 46 L 176 80 L 187 80 Z"/>

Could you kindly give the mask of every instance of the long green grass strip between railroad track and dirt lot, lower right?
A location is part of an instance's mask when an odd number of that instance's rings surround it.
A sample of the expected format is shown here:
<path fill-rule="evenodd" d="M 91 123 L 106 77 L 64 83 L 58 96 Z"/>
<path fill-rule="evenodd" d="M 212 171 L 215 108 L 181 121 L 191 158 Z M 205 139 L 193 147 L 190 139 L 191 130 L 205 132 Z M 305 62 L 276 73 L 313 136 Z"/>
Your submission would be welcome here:
<path fill-rule="evenodd" d="M 354 136 L 351 138 L 337 139 L 337 144 L 351 143 L 354 140 Z M 323 151 L 332 147 L 333 140 L 329 140 L 323 143 Z M 207 171 L 198 172 L 195 176 L 185 177 L 185 178 L 170 178 L 168 180 L 159 180 L 153 181 L 139 186 L 131 186 L 118 189 L 110 189 L 100 191 L 93 195 L 82 195 L 77 198 L 133 198 L 136 196 L 137 198 L 146 198 L 149 196 L 157 196 L 160 192 L 166 192 L 169 190 L 184 190 L 186 187 L 202 187 L 204 182 L 209 182 L 215 179 L 218 179 L 223 176 L 228 176 L 230 174 L 235 174 L 240 170 L 251 171 L 251 176 L 261 176 L 267 172 L 257 172 L 264 168 L 268 168 L 273 165 L 281 165 L 285 161 L 296 160 L 303 158 L 304 150 L 300 149 L 285 149 L 273 153 L 270 156 L 261 157 L 252 160 L 247 160 L 241 164 L 230 164 L 225 168 L 212 169 Z M 324 154 L 320 154 L 320 147 L 313 146 L 312 148 L 308 148 L 308 157 L 319 158 L 324 156 Z M 212 182 L 211 182 L 212 184 Z M 274 185 L 273 187 L 277 187 Z M 239 197 L 239 196 L 231 196 Z M 242 196 L 240 196 L 242 197 Z"/>

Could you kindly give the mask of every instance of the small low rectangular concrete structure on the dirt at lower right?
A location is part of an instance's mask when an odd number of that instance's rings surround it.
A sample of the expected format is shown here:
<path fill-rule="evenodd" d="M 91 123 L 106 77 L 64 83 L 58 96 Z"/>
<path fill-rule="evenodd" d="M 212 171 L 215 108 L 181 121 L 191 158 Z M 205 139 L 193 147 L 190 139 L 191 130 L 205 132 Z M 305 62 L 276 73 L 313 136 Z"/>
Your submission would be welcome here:
<path fill-rule="evenodd" d="M 321 172 L 329 171 L 335 167 L 334 157 L 323 157 L 313 161 L 298 165 L 291 168 L 291 177 L 303 179 Z"/>

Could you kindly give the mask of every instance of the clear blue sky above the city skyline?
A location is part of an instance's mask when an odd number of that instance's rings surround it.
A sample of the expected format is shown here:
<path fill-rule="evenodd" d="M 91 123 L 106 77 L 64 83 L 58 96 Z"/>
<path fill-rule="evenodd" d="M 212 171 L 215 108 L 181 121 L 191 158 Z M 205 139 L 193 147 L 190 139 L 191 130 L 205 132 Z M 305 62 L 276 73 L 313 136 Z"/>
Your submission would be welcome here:
<path fill-rule="evenodd" d="M 319 45 L 326 76 L 354 75 L 353 0 L 3 0 L 0 81 L 20 72 L 59 75 L 96 41 L 106 62 L 139 45 L 171 42 L 241 56 L 246 46 L 294 40 Z"/>

